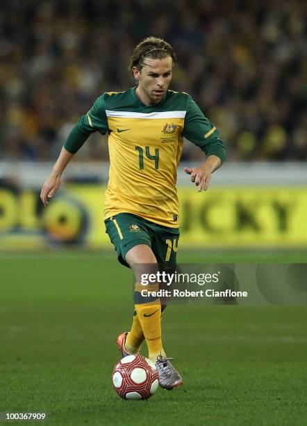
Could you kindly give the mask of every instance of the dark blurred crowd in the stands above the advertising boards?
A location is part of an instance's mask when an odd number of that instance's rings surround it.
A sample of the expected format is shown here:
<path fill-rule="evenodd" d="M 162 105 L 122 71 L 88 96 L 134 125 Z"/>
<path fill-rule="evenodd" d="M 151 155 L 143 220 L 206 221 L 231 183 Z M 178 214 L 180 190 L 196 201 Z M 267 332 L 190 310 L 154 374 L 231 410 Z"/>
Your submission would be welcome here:
<path fill-rule="evenodd" d="M 55 159 L 104 91 L 134 85 L 128 57 L 146 36 L 177 54 L 228 159 L 307 159 L 307 3 L 301 0 L 2 0 L 0 159 Z M 199 150 L 187 144 L 184 159 Z M 108 158 L 90 136 L 78 158 Z"/>

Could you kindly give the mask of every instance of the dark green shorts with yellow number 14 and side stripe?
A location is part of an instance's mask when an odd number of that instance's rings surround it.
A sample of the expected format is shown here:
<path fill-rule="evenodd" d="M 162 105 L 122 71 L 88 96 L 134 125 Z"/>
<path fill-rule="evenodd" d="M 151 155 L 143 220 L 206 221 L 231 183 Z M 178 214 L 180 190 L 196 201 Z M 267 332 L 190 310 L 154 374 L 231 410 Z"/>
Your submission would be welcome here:
<path fill-rule="evenodd" d="M 158 263 L 176 264 L 179 228 L 158 225 L 130 213 L 115 214 L 104 223 L 122 265 L 128 267 L 126 253 L 138 244 L 151 247 Z"/>

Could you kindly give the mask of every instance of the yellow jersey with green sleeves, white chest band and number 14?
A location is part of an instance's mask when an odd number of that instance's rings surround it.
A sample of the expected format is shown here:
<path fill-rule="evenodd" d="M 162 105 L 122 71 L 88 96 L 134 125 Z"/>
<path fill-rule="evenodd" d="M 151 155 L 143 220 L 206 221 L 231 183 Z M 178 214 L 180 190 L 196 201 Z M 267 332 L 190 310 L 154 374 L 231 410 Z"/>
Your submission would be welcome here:
<path fill-rule="evenodd" d="M 126 212 L 178 228 L 176 178 L 183 136 L 206 155 L 217 155 L 221 161 L 225 157 L 217 129 L 187 93 L 167 90 L 159 104 L 150 106 L 142 104 L 135 88 L 104 93 L 77 127 L 85 136 L 96 130 L 109 134 L 105 219 Z M 79 145 L 69 136 L 65 148 L 76 152 Z"/>

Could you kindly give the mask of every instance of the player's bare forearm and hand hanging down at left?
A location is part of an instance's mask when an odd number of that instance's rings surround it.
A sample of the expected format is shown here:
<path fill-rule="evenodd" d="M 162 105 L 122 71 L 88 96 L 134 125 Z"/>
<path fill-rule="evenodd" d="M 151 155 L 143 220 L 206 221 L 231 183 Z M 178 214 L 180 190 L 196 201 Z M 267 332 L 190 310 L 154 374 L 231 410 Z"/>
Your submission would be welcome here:
<path fill-rule="evenodd" d="M 52 198 L 54 194 L 56 194 L 56 191 L 58 191 L 62 173 L 72 157 L 74 157 L 74 154 L 71 154 L 63 147 L 56 164 L 53 166 L 49 178 L 46 180 L 46 182 L 44 182 L 42 191 L 40 192 L 40 199 L 42 200 L 42 203 L 45 207 L 49 204 L 49 198 Z"/>

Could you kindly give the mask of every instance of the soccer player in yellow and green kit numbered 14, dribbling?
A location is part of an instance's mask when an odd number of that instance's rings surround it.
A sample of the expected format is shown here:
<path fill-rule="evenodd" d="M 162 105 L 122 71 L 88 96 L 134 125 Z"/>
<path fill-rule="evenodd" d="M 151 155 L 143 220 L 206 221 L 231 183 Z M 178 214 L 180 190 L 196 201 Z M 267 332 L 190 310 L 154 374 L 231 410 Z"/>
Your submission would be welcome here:
<path fill-rule="evenodd" d="M 174 265 L 179 240 L 179 200 L 176 173 L 183 137 L 206 153 L 206 161 L 185 168 L 198 191 L 208 189 L 211 173 L 225 158 L 215 126 L 187 93 L 168 90 L 176 55 L 160 38 L 145 38 L 135 47 L 130 70 L 136 87 L 99 96 L 67 137 L 41 199 L 48 205 L 60 187 L 68 162 L 92 132 L 108 132 L 110 176 L 104 210 L 106 232 L 119 262 L 133 269 L 135 312 L 129 332 L 117 338 L 122 356 L 138 354 L 146 340 L 149 358 L 156 363 L 159 384 L 172 389 L 181 375 L 163 349 L 159 298 L 142 297 L 139 264 Z"/>

